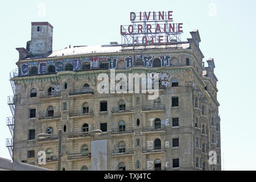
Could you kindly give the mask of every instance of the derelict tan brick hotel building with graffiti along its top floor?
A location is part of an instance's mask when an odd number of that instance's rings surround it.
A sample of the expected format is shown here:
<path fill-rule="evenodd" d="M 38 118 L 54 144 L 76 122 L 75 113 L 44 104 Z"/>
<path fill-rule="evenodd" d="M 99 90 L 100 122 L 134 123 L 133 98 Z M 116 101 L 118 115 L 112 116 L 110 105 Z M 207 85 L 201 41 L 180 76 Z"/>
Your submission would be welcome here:
<path fill-rule="evenodd" d="M 62 137 L 61 169 L 221 170 L 218 80 L 213 59 L 204 67 L 199 31 L 179 48 L 124 50 L 112 43 L 52 51 L 51 24 L 32 22 L 31 30 L 10 73 L 13 138 L 6 146 L 14 162 L 55 170 L 58 138 L 38 134 L 100 129 L 101 135 Z M 102 73 L 115 78 L 116 90 L 102 83 Z M 142 89 L 147 73 L 159 74 L 155 99 Z M 142 77 L 139 85 L 118 77 L 129 74 Z M 139 92 L 125 92 L 129 84 Z M 38 163 L 40 151 L 46 164 Z"/>

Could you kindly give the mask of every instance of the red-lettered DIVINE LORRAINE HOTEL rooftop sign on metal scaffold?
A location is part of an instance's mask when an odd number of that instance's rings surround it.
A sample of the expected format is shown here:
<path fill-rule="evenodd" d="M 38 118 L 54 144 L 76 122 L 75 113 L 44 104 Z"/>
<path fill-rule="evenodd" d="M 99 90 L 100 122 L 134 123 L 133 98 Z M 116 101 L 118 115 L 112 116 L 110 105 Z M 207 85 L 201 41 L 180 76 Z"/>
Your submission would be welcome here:
<path fill-rule="evenodd" d="M 181 42 L 183 23 L 174 23 L 172 11 L 130 13 L 129 25 L 121 25 L 122 46 L 159 46 Z"/>

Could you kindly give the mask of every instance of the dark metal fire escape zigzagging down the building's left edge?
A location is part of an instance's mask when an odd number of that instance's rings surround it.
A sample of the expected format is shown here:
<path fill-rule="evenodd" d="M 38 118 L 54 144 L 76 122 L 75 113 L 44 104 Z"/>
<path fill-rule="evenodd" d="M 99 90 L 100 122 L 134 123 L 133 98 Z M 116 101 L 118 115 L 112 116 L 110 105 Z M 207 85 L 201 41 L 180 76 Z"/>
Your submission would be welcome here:
<path fill-rule="evenodd" d="M 18 68 L 14 69 L 14 71 L 10 72 L 10 82 L 11 82 L 11 88 L 13 89 L 13 94 L 15 96 L 15 83 L 13 78 L 18 77 Z M 14 96 L 8 96 L 7 97 L 7 104 L 9 105 L 11 109 L 11 114 L 13 117 L 7 117 L 6 118 L 6 125 L 9 127 L 9 130 L 11 132 L 12 138 L 6 139 L 6 147 L 8 148 L 11 159 L 13 159 L 13 139 L 14 139 L 14 117 L 15 117 L 15 103 L 14 103 Z"/>

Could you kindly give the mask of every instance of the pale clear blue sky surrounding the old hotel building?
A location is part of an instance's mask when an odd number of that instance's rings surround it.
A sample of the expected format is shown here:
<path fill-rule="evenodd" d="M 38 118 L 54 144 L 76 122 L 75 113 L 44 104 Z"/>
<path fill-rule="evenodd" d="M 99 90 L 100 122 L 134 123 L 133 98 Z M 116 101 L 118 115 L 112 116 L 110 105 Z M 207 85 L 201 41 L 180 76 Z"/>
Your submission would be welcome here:
<path fill-rule="evenodd" d="M 130 12 L 173 11 L 183 23 L 182 40 L 198 29 L 200 49 L 214 58 L 220 102 L 222 169 L 256 170 L 256 1 L 3 1 L 0 6 L 1 122 L 0 157 L 9 158 L 5 139 L 11 138 L 6 117 L 7 96 L 13 95 L 9 72 L 16 68 L 18 51 L 31 39 L 31 22 L 48 21 L 53 28 L 53 50 L 80 45 L 121 43 L 120 25 Z M 205 62 L 206 63 L 206 62 Z M 223 159 L 224 156 L 224 159 Z"/>

